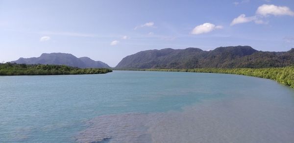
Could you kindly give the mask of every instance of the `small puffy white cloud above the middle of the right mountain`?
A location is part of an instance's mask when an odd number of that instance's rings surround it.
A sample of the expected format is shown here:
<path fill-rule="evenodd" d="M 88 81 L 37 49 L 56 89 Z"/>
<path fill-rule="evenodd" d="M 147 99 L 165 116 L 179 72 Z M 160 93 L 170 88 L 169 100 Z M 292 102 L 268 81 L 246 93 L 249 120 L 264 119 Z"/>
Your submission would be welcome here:
<path fill-rule="evenodd" d="M 221 29 L 223 28 L 221 25 L 216 26 L 215 24 L 211 24 L 211 23 L 205 23 L 205 24 L 201 24 L 196 26 L 191 34 L 202 34 L 202 33 L 208 33 L 211 32 L 215 29 Z"/>

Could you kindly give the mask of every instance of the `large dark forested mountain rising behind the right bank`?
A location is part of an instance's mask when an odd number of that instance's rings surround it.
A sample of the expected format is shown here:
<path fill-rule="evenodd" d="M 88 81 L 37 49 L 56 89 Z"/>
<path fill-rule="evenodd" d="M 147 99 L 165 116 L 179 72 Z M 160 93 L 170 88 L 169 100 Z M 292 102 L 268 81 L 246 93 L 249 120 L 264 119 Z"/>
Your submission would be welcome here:
<path fill-rule="evenodd" d="M 153 49 L 123 58 L 117 69 L 267 68 L 294 65 L 294 48 L 287 52 L 258 51 L 249 46 Z"/>

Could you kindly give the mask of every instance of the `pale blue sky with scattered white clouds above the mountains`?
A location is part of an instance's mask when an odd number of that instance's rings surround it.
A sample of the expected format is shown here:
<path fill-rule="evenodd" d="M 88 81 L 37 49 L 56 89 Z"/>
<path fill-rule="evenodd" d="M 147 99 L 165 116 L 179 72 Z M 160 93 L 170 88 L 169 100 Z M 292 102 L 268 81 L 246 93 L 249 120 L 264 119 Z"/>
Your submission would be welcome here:
<path fill-rule="evenodd" d="M 0 0 L 0 62 L 42 53 L 115 67 L 148 49 L 294 48 L 294 0 Z"/>

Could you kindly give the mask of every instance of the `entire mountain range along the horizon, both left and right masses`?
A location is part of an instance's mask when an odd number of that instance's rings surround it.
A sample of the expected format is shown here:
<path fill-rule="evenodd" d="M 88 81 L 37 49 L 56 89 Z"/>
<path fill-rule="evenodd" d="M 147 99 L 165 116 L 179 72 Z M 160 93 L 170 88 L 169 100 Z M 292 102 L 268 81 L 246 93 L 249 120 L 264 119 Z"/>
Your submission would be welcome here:
<path fill-rule="evenodd" d="M 69 53 L 43 53 L 40 57 L 19 58 L 10 63 L 67 65 L 79 68 L 110 68 L 88 57 Z M 116 69 L 192 69 L 192 68 L 270 68 L 294 65 L 294 48 L 289 51 L 258 51 L 250 46 L 152 49 L 124 57 Z"/>

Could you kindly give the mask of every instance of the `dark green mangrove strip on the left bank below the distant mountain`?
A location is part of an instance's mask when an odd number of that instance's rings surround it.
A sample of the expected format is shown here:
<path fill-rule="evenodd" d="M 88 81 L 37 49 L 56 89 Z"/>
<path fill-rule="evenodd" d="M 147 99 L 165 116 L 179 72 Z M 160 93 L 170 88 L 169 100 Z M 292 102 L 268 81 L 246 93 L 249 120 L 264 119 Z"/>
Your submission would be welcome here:
<path fill-rule="evenodd" d="M 0 75 L 59 75 L 59 74 L 99 74 L 111 72 L 110 69 L 80 69 L 64 65 L 25 65 L 0 64 Z"/>

